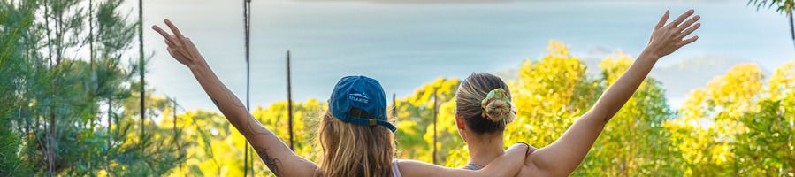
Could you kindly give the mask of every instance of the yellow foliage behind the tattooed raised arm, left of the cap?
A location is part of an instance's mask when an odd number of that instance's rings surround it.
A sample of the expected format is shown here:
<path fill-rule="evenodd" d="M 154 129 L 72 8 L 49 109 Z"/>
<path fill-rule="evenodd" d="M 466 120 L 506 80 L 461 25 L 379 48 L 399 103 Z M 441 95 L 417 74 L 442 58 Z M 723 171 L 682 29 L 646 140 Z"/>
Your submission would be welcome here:
<path fill-rule="evenodd" d="M 317 118 L 322 115 L 324 107 L 325 104 L 314 99 L 293 104 L 295 153 L 315 162 L 319 162 L 322 155 L 316 143 L 316 131 Z M 289 143 L 287 102 L 271 104 L 266 108 L 257 107 L 252 115 L 285 143 Z M 169 127 L 174 119 L 171 116 L 164 117 L 160 126 Z M 180 147 L 180 150 L 187 154 L 187 159 L 169 175 L 240 176 L 243 174 L 242 147 L 245 139 L 223 116 L 215 112 L 191 111 L 178 114 L 176 121 L 178 122 L 176 127 L 181 131 L 181 135 L 176 138 L 180 142 L 188 142 Z M 256 176 L 271 175 L 259 158 L 254 159 L 253 168 Z"/>

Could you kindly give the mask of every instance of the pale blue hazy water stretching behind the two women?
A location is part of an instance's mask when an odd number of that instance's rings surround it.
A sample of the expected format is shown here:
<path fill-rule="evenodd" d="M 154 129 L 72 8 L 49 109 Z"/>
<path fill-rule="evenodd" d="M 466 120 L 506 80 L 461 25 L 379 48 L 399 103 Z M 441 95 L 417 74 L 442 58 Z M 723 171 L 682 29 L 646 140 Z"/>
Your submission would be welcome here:
<path fill-rule="evenodd" d="M 690 67 L 704 70 L 692 77 L 662 80 L 674 106 L 686 96 L 682 90 L 706 85 L 708 79 L 728 70 L 725 65 L 752 62 L 772 71 L 795 58 L 784 15 L 766 9 L 757 12 L 741 0 L 376 2 L 254 1 L 252 106 L 286 99 L 286 50 L 293 53 L 296 101 L 325 101 L 340 77 L 356 74 L 378 79 L 387 94 L 408 96 L 439 77 L 516 69 L 524 59 L 546 55 L 547 43 L 553 39 L 568 44 L 574 56 L 589 64 L 613 50 L 636 57 L 666 9 L 678 15 L 693 8 L 702 16 L 696 33 L 699 41 L 661 59 L 652 74 L 676 75 L 665 68 L 691 63 Z M 170 0 L 144 5 L 145 50 L 155 52 L 147 78 L 157 94 L 176 97 L 189 110 L 216 110 L 187 67 L 168 56 L 162 38 L 149 29 L 169 18 L 245 102 L 240 1 Z M 720 65 L 715 65 L 716 58 Z"/>

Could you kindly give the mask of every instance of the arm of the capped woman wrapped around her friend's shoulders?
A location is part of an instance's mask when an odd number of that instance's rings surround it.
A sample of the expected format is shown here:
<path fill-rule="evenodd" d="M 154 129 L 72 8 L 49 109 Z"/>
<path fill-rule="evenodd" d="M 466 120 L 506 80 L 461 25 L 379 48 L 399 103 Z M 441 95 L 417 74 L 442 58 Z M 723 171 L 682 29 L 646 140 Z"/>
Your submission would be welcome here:
<path fill-rule="evenodd" d="M 432 165 L 416 160 L 401 160 L 398 164 L 401 175 L 413 176 L 450 176 L 450 177 L 501 177 L 515 176 L 524 163 L 524 158 L 530 145 L 517 143 L 508 148 L 500 158 L 494 159 L 481 170 L 464 170 Z"/>

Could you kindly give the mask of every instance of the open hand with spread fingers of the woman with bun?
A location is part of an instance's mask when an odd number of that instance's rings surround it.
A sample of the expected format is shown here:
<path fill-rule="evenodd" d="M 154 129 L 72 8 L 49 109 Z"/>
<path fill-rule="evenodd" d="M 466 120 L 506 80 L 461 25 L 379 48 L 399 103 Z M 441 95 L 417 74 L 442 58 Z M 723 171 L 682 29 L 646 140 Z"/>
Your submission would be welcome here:
<path fill-rule="evenodd" d="M 657 22 L 657 26 L 654 27 L 654 32 L 652 32 L 652 37 L 649 39 L 649 44 L 646 46 L 645 51 L 649 52 L 653 58 L 662 58 L 682 48 L 684 45 L 698 40 L 698 35 L 684 39 L 684 37 L 701 27 L 701 23 L 696 23 L 701 19 L 701 16 L 696 15 L 688 19 L 694 12 L 693 10 L 684 12 L 679 18 L 665 25 L 670 13 L 666 11 L 662 19 Z M 685 19 L 687 20 L 685 21 Z"/>

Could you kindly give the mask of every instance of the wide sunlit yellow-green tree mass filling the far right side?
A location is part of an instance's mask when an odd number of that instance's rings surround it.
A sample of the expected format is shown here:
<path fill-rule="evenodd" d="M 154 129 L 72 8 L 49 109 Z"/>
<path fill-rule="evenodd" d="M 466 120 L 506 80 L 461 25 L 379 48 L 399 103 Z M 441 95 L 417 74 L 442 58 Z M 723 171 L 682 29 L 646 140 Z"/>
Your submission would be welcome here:
<path fill-rule="evenodd" d="M 685 174 L 791 175 L 791 70 L 791 64 L 776 69 L 766 90 L 757 65 L 737 65 L 695 89 L 680 118 L 666 124 Z"/>

